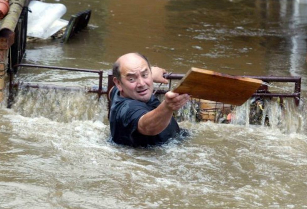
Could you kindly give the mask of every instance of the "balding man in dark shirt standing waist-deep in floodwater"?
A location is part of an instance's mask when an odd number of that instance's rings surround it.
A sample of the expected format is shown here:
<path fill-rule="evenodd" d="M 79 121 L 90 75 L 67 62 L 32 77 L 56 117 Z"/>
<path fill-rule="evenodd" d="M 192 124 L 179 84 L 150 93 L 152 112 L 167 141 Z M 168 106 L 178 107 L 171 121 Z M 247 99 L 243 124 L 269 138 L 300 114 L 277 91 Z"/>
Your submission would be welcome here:
<path fill-rule="evenodd" d="M 110 91 L 110 129 L 116 144 L 133 147 L 163 144 L 180 128 L 173 112 L 190 96 L 168 91 L 161 103 L 153 96 L 153 82 L 168 83 L 165 70 L 150 67 L 138 53 L 122 55 L 113 65 L 114 88 Z"/>

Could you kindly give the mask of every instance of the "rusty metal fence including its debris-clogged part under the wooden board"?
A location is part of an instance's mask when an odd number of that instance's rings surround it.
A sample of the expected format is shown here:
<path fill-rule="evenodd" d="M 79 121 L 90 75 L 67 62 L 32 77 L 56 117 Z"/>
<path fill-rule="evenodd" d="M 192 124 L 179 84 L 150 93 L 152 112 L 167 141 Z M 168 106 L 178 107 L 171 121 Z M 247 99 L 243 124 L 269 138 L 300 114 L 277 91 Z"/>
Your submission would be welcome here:
<path fill-rule="evenodd" d="M 19 86 L 23 86 L 25 88 L 46 88 L 46 89 L 62 89 L 62 90 L 79 90 L 80 88 L 77 87 L 69 87 L 69 86 L 55 86 L 55 85 L 42 85 L 42 84 L 33 84 L 33 83 L 14 83 L 13 77 L 14 73 L 17 71 L 19 67 L 28 67 L 28 68 L 45 68 L 45 69 L 56 69 L 56 70 L 64 70 L 64 71 L 79 71 L 79 72 L 89 72 L 89 73 L 96 73 L 98 74 L 98 87 L 91 87 L 87 89 L 89 93 L 96 93 L 98 95 L 98 99 L 103 94 L 108 94 L 110 89 L 114 86 L 113 83 L 113 75 L 110 71 L 99 71 L 99 70 L 90 70 L 90 69 L 80 69 L 80 68 L 69 68 L 69 67 L 59 67 L 59 66 L 48 66 L 48 65 L 33 65 L 33 64 L 17 64 L 13 66 L 13 69 L 9 69 L 9 95 L 8 95 L 8 108 L 11 108 L 14 96 L 18 91 Z M 184 74 L 174 74 L 174 73 L 167 73 L 164 75 L 166 79 L 169 79 L 169 84 L 167 88 L 158 89 L 155 91 L 155 94 L 165 94 L 167 91 L 170 91 L 172 87 L 173 80 L 180 80 Z M 104 85 L 103 78 L 107 77 L 107 83 Z M 301 91 L 301 77 L 299 76 L 243 76 L 243 77 L 250 77 L 256 78 L 264 81 L 265 83 L 269 84 L 270 82 L 282 82 L 282 83 L 294 83 L 294 88 L 291 93 L 284 93 L 284 92 L 270 92 L 268 85 L 262 85 L 253 95 L 252 97 L 256 98 L 272 98 L 278 97 L 280 101 L 283 101 L 283 98 L 294 98 L 295 104 L 298 106 L 300 101 L 300 91 Z M 214 86 L 213 86 L 214 87 Z M 202 118 L 200 120 L 212 120 L 217 122 L 217 110 L 219 109 L 219 113 L 229 113 L 233 106 L 219 103 L 219 102 L 212 102 L 212 101 L 201 101 L 198 100 L 198 108 L 202 113 Z M 110 102 L 108 104 L 110 108 Z"/>

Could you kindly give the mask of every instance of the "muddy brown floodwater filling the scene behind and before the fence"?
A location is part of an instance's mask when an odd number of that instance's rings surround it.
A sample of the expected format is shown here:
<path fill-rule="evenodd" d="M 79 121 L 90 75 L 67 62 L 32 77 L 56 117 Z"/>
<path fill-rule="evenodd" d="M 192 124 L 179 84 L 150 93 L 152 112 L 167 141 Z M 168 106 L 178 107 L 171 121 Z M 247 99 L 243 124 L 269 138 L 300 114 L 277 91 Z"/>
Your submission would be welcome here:
<path fill-rule="evenodd" d="M 180 122 L 191 136 L 151 149 L 108 142 L 106 99 L 21 90 L 0 108 L 0 208 L 307 208 L 307 4 L 289 0 L 79 0 L 92 9 L 67 44 L 28 43 L 23 62 L 110 70 L 137 51 L 152 65 L 302 76 L 302 101 L 267 101 L 271 126 Z M 22 68 L 16 80 L 97 86 L 96 75 Z M 293 91 L 292 84 L 272 84 Z M 191 119 L 191 118 L 190 118 Z"/>

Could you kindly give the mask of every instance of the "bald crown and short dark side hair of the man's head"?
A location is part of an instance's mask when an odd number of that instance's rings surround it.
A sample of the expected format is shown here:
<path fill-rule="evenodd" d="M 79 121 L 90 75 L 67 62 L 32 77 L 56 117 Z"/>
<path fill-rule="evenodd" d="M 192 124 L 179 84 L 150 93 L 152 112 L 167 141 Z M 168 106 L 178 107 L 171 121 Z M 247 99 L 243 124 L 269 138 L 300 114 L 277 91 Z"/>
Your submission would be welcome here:
<path fill-rule="evenodd" d="M 113 76 L 116 77 L 119 81 L 121 80 L 121 65 L 134 65 L 136 64 L 140 59 L 143 59 L 147 62 L 148 67 L 150 69 L 150 63 L 148 59 L 137 52 L 128 53 L 125 55 L 120 56 L 116 62 L 113 65 Z"/>

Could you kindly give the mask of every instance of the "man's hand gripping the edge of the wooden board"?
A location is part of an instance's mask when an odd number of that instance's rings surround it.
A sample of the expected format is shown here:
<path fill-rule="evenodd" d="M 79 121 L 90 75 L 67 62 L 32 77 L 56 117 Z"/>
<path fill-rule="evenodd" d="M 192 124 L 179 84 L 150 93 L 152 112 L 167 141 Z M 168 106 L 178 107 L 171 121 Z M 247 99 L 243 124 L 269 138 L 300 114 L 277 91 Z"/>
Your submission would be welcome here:
<path fill-rule="evenodd" d="M 172 111 L 178 110 L 183 107 L 187 101 L 189 101 L 190 95 L 178 94 L 172 91 L 168 91 L 165 94 L 164 102 L 166 107 Z"/>

